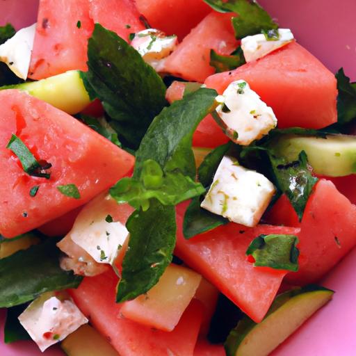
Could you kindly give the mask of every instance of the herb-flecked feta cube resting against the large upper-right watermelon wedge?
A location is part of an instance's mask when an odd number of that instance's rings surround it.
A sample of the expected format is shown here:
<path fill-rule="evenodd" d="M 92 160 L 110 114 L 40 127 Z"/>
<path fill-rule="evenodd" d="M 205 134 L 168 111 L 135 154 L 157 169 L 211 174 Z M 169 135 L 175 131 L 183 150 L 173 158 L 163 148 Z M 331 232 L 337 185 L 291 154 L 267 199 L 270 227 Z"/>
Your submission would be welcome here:
<path fill-rule="evenodd" d="M 220 103 L 216 108 L 216 120 L 227 136 L 239 145 L 250 145 L 277 125 L 272 108 L 243 80 L 230 83 L 216 101 Z"/>

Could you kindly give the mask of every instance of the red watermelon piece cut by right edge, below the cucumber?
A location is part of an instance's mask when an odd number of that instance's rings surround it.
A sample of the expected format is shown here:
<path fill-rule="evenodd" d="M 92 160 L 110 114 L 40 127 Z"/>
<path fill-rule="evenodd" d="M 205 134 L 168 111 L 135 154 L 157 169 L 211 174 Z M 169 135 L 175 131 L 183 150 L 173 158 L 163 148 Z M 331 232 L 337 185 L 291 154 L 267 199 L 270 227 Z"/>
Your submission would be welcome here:
<path fill-rule="evenodd" d="M 317 282 L 356 245 L 356 206 L 331 181 L 321 179 L 307 202 L 298 238 L 299 270 L 286 281 Z"/>

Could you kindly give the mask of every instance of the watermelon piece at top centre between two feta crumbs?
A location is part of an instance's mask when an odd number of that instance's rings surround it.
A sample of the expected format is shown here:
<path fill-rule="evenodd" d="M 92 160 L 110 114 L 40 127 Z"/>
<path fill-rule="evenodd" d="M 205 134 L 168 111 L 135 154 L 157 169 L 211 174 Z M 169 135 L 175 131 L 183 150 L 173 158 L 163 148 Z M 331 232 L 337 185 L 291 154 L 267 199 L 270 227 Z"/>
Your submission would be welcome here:
<path fill-rule="evenodd" d="M 188 81 L 203 82 L 215 72 L 210 50 L 230 54 L 237 47 L 231 13 L 212 12 L 198 24 L 165 60 L 163 71 Z"/>

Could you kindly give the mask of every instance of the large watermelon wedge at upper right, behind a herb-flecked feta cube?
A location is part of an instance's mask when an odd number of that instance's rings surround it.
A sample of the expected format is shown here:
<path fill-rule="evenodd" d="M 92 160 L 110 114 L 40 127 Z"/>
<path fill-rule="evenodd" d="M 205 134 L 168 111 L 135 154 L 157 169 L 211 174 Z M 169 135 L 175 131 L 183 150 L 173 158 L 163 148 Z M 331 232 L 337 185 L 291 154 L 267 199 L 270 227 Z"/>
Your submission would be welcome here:
<path fill-rule="evenodd" d="M 337 122 L 334 74 L 296 42 L 232 72 L 210 76 L 205 83 L 221 94 L 238 79 L 273 108 L 280 128 L 321 129 Z"/>

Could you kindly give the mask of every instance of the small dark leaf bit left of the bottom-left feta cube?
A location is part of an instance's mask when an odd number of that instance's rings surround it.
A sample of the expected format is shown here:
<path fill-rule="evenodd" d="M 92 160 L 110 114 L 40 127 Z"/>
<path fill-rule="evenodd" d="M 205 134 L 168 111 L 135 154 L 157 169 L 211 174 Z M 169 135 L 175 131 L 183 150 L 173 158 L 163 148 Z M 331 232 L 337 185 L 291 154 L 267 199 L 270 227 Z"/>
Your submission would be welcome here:
<path fill-rule="evenodd" d="M 19 323 L 19 315 L 24 312 L 27 304 L 17 305 L 16 307 L 8 308 L 6 311 L 6 323 L 3 329 L 3 341 L 12 343 L 19 340 L 31 340 L 30 335 L 24 327 Z"/>

